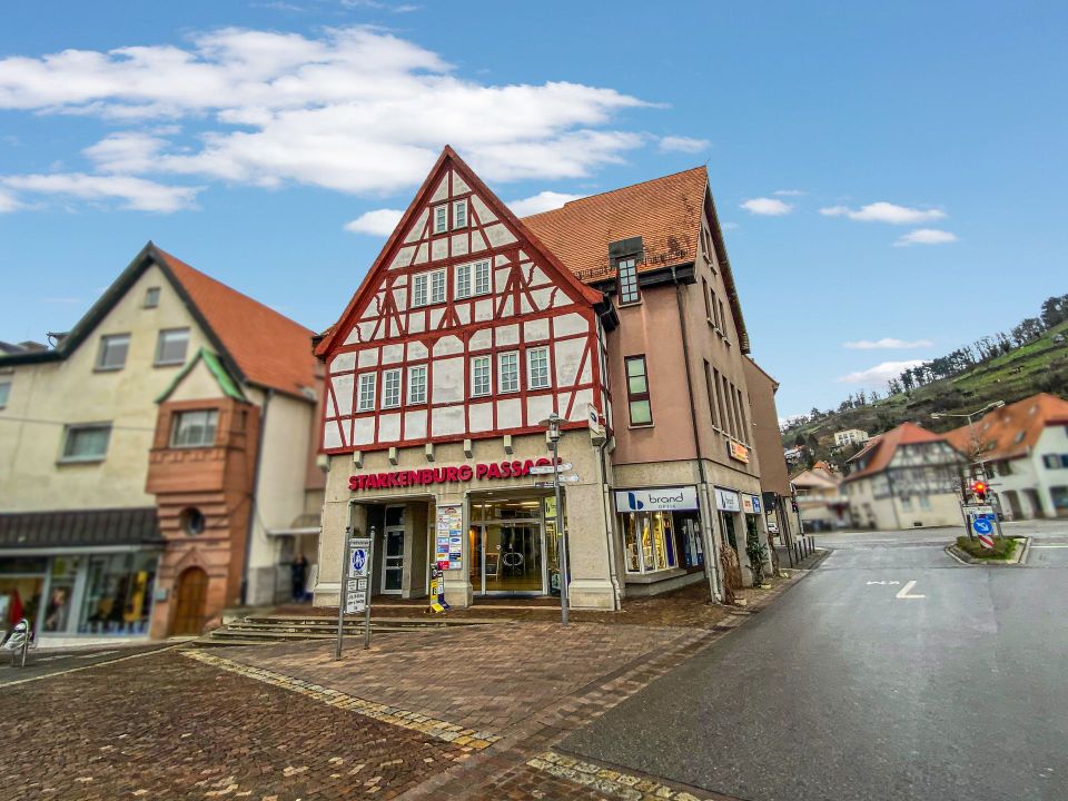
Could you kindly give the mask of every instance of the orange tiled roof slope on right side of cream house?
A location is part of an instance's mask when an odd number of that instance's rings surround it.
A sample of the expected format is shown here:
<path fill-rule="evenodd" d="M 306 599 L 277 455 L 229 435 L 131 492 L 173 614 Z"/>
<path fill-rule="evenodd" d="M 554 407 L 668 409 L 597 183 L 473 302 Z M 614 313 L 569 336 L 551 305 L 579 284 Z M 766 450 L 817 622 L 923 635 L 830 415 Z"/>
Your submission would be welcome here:
<path fill-rule="evenodd" d="M 316 386 L 313 332 L 154 248 L 251 384 L 299 395 Z"/>

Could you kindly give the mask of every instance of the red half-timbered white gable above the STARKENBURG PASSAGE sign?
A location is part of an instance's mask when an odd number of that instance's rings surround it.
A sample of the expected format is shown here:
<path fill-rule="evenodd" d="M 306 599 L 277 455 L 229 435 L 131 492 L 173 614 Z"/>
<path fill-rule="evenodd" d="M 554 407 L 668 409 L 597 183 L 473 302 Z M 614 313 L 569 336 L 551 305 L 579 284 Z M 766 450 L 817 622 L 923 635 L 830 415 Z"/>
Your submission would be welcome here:
<path fill-rule="evenodd" d="M 465 208 L 462 225 L 458 204 Z M 445 230 L 435 231 L 442 207 Z M 458 286 L 463 268 L 465 288 Z M 437 297 L 431 274 L 442 273 L 437 286 L 444 284 L 444 294 Z M 476 275 L 484 286 L 476 285 Z M 484 291 L 476 294 L 478 288 Z M 584 426 L 586 404 L 605 414 L 611 403 L 594 310 L 601 300 L 446 147 L 316 348 L 328 370 L 323 449 L 534 433 L 551 412 L 567 426 Z M 530 359 L 541 348 L 547 385 L 532 386 Z M 517 385 L 508 392 L 500 386 L 502 356 L 517 364 Z M 472 364 L 478 357 L 490 359 L 490 392 L 475 396 Z M 413 368 L 425 368 L 423 403 L 409 397 Z M 399 396 L 384 407 L 392 370 L 399 370 Z M 360 382 L 370 376 L 373 408 L 360 411 Z"/>

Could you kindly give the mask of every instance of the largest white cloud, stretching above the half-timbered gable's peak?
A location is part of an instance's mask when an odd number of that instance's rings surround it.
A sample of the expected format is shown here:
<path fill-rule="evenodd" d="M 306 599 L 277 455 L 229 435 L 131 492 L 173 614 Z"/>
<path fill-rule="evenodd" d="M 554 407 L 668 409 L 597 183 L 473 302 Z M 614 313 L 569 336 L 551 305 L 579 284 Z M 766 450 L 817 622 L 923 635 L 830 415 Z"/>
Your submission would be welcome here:
<path fill-rule="evenodd" d="M 0 59 L 0 109 L 121 126 L 86 148 L 100 171 L 369 195 L 417 186 L 446 142 L 493 181 L 586 177 L 651 140 L 611 129 L 646 106 L 581 83 L 461 78 L 436 52 L 367 27 L 228 28 L 185 47 Z M 144 132 L 147 120 L 180 122 L 187 139 Z"/>

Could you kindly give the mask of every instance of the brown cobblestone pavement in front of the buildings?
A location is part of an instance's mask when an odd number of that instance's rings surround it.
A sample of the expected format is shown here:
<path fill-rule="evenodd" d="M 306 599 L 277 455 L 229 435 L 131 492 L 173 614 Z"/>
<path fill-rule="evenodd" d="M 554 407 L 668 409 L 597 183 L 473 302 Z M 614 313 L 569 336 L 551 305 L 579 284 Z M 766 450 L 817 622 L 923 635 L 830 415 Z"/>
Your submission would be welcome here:
<path fill-rule="evenodd" d="M 0 688 L 0 801 L 718 798 L 557 743 L 791 583 L 675 616 L 689 626 L 428 630 L 349 642 L 340 662 L 320 642 L 168 650 Z"/>

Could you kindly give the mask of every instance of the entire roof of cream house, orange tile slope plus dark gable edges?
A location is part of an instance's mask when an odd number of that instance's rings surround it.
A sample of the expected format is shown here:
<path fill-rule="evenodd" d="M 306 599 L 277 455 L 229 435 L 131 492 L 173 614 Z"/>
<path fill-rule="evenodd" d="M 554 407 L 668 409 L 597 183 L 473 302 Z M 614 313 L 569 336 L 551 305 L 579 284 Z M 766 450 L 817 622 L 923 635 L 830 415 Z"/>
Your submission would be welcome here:
<path fill-rule="evenodd" d="M 315 387 L 313 332 L 148 243 L 53 349 L 0 355 L 0 365 L 67 358 L 151 265 L 175 286 L 212 350 L 241 382 L 303 397 Z"/>

